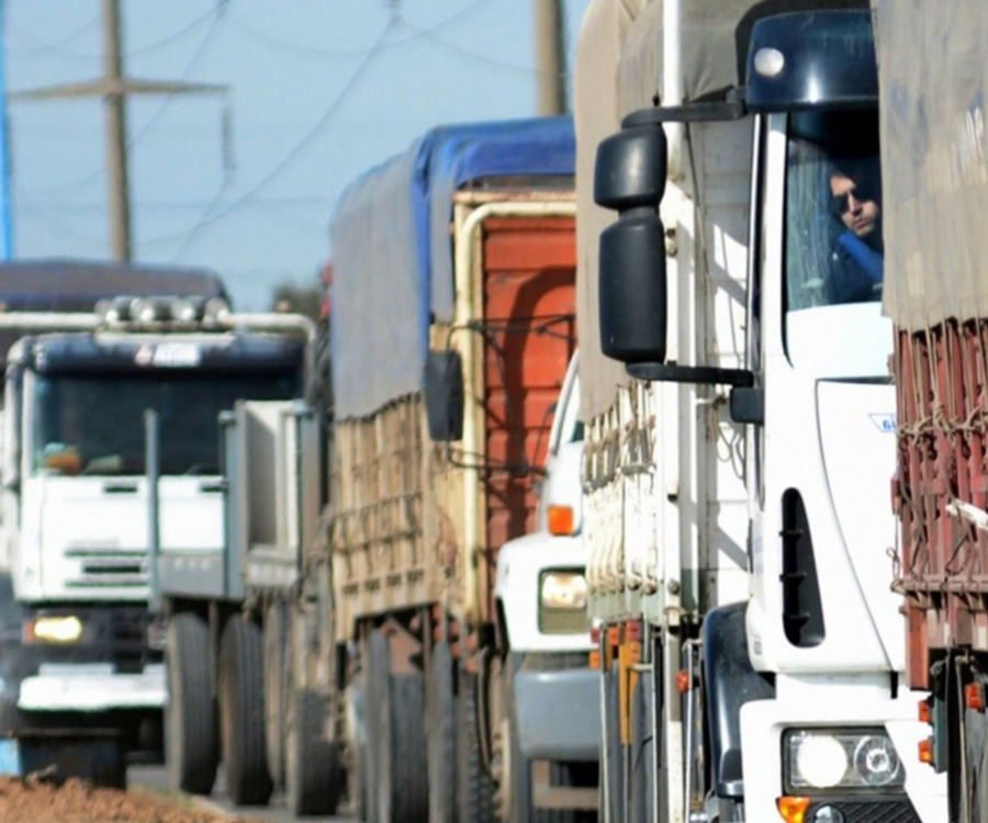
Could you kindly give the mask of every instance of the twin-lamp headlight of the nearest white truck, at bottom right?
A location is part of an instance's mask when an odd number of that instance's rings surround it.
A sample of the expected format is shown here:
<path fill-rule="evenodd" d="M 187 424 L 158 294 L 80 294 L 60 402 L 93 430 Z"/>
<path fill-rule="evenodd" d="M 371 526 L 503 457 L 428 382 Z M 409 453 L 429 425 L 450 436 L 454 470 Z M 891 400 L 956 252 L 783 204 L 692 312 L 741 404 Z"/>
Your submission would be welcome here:
<path fill-rule="evenodd" d="M 802 730 L 783 735 L 783 778 L 793 793 L 899 790 L 906 770 L 882 729 Z"/>

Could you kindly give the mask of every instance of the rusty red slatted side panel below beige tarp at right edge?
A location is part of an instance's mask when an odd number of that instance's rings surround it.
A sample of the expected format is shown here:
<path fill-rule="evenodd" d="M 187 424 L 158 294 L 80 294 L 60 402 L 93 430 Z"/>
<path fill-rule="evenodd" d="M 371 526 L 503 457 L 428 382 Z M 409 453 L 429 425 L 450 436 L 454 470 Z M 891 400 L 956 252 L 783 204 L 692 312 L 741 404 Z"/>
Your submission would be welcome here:
<path fill-rule="evenodd" d="M 988 651 L 988 322 L 900 331 L 896 374 L 907 675 L 939 650 Z"/>

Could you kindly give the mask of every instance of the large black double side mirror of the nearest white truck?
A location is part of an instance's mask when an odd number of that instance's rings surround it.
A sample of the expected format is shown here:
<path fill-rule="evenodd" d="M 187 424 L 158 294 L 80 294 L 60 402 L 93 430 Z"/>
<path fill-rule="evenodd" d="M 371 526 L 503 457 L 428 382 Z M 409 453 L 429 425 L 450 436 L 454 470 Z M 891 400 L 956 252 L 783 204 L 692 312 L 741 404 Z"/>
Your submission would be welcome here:
<path fill-rule="evenodd" d="M 604 354 L 665 362 L 665 192 L 669 145 L 658 123 L 624 128 L 597 147 L 594 200 L 618 212 L 600 235 L 599 320 Z"/>

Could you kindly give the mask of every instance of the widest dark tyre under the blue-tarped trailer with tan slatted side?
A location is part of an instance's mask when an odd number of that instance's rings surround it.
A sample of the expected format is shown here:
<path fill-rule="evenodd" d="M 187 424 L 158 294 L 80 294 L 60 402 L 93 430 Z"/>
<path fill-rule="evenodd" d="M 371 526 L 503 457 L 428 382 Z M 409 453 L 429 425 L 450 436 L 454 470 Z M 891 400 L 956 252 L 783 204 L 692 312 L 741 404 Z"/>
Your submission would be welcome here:
<path fill-rule="evenodd" d="M 420 673 L 391 675 L 378 691 L 378 823 L 428 820 L 428 769 L 425 742 L 424 678 Z"/>

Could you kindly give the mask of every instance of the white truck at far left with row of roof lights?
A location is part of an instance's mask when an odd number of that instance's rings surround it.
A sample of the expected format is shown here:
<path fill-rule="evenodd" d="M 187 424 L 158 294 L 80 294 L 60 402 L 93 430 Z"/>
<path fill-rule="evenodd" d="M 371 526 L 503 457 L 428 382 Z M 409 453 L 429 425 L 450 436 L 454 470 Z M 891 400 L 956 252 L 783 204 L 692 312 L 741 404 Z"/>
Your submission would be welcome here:
<path fill-rule="evenodd" d="M 162 745 L 150 506 L 155 541 L 218 540 L 215 415 L 294 396 L 303 347 L 234 324 L 204 270 L 25 261 L 0 288 L 0 736 L 14 763 L 122 785 L 128 753 Z"/>

